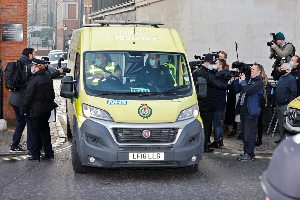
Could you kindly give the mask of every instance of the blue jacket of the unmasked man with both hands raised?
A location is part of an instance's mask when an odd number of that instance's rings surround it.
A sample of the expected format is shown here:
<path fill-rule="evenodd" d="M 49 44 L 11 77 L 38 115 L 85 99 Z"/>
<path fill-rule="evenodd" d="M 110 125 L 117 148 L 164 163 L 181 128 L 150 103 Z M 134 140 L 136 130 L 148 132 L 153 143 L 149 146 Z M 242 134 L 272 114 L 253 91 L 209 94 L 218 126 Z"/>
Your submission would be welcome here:
<path fill-rule="evenodd" d="M 259 99 L 262 98 L 264 84 L 261 80 L 261 76 L 253 78 L 248 85 L 247 83 L 249 82 L 249 80 L 250 78 L 247 78 L 246 80 L 243 80 L 241 84 L 239 83 L 238 79 L 233 81 L 234 91 L 236 93 L 241 92 L 238 98 L 237 106 L 235 108 L 235 114 L 238 115 L 241 112 L 240 102 L 242 98 L 242 92 L 245 92 L 245 98 L 247 98 L 249 119 L 252 119 L 258 117 L 260 114 L 261 107 Z"/>

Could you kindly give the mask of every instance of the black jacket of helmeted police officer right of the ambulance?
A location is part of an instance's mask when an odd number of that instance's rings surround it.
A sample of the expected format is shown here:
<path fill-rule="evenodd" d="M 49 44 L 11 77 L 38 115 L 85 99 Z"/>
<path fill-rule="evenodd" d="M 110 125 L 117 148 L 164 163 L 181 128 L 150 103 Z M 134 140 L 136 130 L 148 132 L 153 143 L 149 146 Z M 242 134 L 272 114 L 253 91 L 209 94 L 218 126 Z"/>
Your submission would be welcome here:
<path fill-rule="evenodd" d="M 204 112 L 217 110 L 217 90 L 226 90 L 228 84 L 223 84 L 212 74 L 212 70 L 202 66 L 192 72 L 193 80 L 197 77 L 205 78 L 207 83 L 207 95 L 204 99 L 198 99 L 199 110 Z"/>

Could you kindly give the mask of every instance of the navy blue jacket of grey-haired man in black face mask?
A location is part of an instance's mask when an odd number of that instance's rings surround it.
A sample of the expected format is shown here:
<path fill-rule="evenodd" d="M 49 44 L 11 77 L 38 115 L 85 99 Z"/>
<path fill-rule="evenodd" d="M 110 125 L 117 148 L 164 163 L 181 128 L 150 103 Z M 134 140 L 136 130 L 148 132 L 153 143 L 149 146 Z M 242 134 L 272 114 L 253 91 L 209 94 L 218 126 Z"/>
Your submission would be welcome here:
<path fill-rule="evenodd" d="M 296 79 L 291 73 L 281 76 L 277 82 L 275 100 L 278 106 L 284 106 L 297 97 Z"/>

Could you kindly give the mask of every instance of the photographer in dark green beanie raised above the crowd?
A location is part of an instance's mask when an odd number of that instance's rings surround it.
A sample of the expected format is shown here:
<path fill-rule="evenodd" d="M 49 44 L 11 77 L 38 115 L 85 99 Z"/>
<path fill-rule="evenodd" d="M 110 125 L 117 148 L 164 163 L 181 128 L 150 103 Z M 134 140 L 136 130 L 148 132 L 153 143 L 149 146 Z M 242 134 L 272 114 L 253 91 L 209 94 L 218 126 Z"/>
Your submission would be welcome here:
<path fill-rule="evenodd" d="M 287 58 L 287 63 L 290 62 L 291 58 L 294 56 L 293 45 L 285 39 L 282 32 L 276 33 L 277 44 L 275 44 L 275 41 L 273 41 L 274 40 L 271 40 L 271 42 L 273 43 L 270 46 L 271 54 L 275 55 L 276 53 L 280 58 Z M 281 60 L 281 63 L 284 63 L 284 61 Z"/>

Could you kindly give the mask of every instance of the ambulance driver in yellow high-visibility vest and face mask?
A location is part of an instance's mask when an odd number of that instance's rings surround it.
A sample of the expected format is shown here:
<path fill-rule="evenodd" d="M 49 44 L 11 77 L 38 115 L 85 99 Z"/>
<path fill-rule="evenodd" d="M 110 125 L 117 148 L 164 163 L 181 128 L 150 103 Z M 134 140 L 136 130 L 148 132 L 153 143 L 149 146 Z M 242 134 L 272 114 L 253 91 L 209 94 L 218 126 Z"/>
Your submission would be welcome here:
<path fill-rule="evenodd" d="M 122 70 L 120 65 L 115 62 L 109 62 L 105 53 L 95 54 L 95 63 L 88 67 L 87 83 L 92 85 L 98 85 L 100 78 L 108 78 L 111 75 L 120 78 L 122 76 Z"/>

